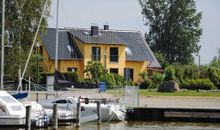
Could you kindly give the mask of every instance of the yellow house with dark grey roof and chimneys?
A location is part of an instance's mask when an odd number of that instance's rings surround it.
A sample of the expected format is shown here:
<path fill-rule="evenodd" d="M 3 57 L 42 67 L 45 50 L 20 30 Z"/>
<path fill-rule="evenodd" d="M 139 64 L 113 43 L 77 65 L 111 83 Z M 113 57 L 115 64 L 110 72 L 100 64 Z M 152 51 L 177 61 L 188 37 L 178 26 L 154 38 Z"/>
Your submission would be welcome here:
<path fill-rule="evenodd" d="M 54 72 L 56 29 L 48 28 L 40 34 L 43 71 Z M 98 61 L 110 73 L 117 73 L 133 81 L 140 72 L 160 68 L 160 64 L 138 31 L 109 30 L 91 26 L 90 29 L 59 29 L 58 70 L 76 71 L 82 78 L 88 61 Z"/>

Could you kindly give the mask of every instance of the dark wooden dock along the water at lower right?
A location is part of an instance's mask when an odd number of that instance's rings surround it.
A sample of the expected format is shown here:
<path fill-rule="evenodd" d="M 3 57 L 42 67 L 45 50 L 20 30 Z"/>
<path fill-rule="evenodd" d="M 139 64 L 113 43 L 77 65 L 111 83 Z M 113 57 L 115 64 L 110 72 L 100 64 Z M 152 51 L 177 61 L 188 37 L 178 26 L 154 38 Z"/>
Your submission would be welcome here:
<path fill-rule="evenodd" d="M 127 121 L 174 121 L 220 123 L 218 108 L 128 108 Z"/>

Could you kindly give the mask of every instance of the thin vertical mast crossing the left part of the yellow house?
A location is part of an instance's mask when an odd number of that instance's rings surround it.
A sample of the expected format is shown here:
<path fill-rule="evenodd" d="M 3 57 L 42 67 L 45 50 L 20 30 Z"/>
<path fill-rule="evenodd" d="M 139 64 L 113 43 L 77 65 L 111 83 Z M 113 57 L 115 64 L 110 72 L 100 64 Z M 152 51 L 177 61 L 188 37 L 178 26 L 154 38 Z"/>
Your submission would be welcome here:
<path fill-rule="evenodd" d="M 58 18 L 59 18 L 59 0 L 57 0 L 57 16 L 56 16 L 55 70 L 58 70 L 58 40 L 59 40 Z"/>

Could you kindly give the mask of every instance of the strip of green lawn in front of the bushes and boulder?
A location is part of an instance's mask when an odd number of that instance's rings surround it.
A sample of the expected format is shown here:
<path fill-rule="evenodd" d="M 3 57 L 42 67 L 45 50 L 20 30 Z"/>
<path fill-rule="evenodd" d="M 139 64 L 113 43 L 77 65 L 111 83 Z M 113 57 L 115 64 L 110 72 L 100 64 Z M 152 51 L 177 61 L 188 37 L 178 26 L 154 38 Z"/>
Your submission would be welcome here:
<path fill-rule="evenodd" d="M 119 96 L 119 90 L 108 90 L 107 93 L 112 94 L 114 96 Z M 199 92 L 196 90 L 188 90 L 188 91 L 179 91 L 174 93 L 167 93 L 167 92 L 157 92 L 157 91 L 150 91 L 148 89 L 140 90 L 140 96 L 147 96 L 147 97 L 159 97 L 159 96 L 194 96 L 194 97 L 220 97 L 220 92 Z"/>

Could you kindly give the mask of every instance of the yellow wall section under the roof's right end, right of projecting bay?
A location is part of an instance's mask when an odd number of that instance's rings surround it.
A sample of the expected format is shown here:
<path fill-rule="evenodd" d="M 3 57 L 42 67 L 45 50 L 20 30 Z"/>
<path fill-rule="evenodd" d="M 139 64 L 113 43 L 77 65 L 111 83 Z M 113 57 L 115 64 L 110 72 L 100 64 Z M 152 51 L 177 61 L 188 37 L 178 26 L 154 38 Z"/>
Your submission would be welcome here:
<path fill-rule="evenodd" d="M 126 68 L 131 68 L 134 70 L 134 82 L 137 82 L 138 78 L 139 78 L 139 74 L 143 71 L 147 71 L 147 64 L 149 62 L 147 61 L 126 61 Z"/>

